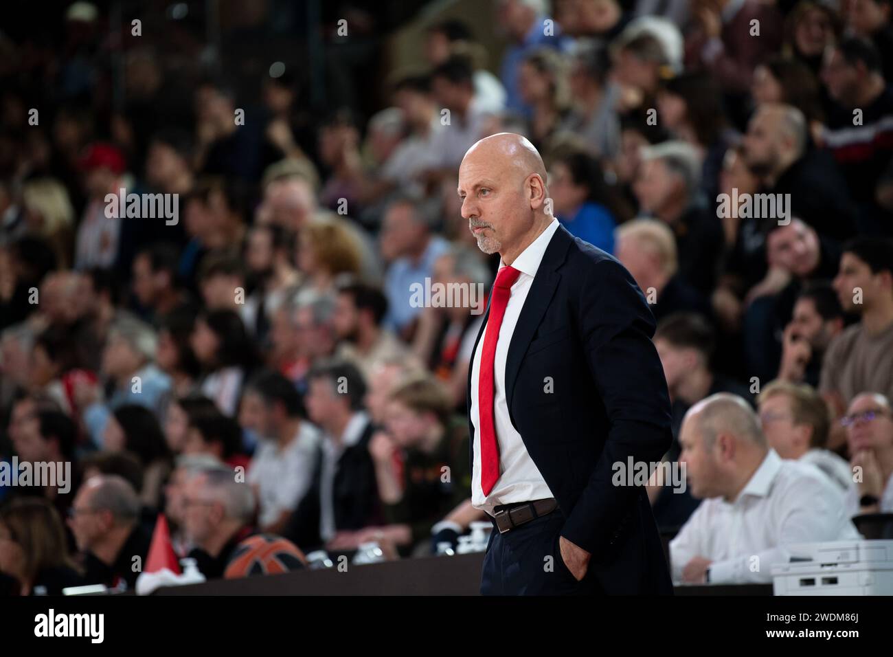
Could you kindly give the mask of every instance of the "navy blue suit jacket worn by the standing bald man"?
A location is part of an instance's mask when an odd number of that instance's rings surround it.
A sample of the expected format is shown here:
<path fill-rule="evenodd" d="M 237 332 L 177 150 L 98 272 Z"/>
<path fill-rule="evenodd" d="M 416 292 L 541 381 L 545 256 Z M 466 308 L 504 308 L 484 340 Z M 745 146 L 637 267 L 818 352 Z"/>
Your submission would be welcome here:
<path fill-rule="evenodd" d="M 488 314 L 489 307 L 480 333 Z M 607 594 L 672 593 L 645 489 L 612 484 L 614 463 L 659 462 L 672 443 L 654 333 L 654 316 L 630 273 L 559 226 L 509 345 L 506 400 L 567 516 L 561 535 L 592 555 L 587 577 L 598 577 Z M 473 459 L 471 417 L 469 430 Z"/>

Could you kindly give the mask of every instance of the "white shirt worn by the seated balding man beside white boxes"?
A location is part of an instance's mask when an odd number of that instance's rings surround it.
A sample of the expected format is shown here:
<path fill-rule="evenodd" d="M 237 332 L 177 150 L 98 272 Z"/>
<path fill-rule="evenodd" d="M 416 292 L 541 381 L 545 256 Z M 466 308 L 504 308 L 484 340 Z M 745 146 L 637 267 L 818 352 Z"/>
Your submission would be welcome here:
<path fill-rule="evenodd" d="M 670 542 L 673 580 L 693 557 L 710 565 L 710 583 L 771 582 L 772 565 L 788 563 L 791 543 L 860 540 L 842 496 L 814 466 L 770 450 L 739 493 L 702 501 Z"/>

